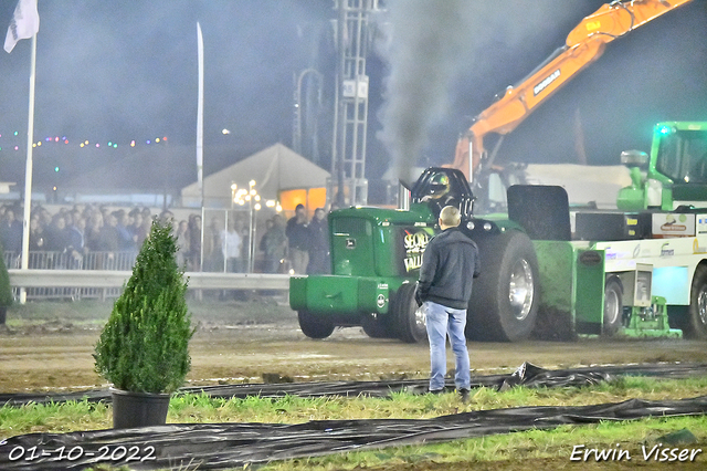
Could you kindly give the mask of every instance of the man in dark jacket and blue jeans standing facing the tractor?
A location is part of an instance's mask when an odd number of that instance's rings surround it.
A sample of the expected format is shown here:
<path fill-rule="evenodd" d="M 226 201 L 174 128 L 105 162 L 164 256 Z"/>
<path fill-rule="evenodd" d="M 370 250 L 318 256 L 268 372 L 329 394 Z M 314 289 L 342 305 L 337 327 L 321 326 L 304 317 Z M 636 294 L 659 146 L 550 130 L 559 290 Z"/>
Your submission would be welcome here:
<path fill-rule="evenodd" d="M 440 211 L 442 232 L 433 237 L 422 254 L 415 301 L 425 314 L 430 341 L 430 393 L 444 390 L 446 337 L 456 358 L 454 384 L 462 401 L 468 401 L 471 371 L 464 327 L 473 279 L 479 274 L 478 248 L 458 230 L 460 210 Z"/>

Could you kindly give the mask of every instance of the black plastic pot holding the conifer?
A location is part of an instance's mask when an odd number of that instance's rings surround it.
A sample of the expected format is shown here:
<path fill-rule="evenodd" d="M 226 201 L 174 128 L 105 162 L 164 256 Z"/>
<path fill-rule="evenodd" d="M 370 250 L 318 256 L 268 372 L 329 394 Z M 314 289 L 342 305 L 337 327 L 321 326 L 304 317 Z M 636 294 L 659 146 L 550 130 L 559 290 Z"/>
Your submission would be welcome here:
<path fill-rule="evenodd" d="M 110 388 L 113 428 L 163 426 L 169 409 L 168 394 L 133 393 Z"/>

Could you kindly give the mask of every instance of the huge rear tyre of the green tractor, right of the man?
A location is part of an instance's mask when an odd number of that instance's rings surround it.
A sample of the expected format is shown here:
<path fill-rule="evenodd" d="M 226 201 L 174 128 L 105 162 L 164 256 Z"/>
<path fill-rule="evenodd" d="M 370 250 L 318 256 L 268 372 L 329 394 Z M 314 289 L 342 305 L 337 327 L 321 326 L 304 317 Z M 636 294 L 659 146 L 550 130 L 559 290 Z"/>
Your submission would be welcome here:
<path fill-rule="evenodd" d="M 535 328 L 540 300 L 532 242 L 524 232 L 508 230 L 479 238 L 476 243 L 481 275 L 472 290 L 467 337 L 493 342 L 528 338 Z"/>

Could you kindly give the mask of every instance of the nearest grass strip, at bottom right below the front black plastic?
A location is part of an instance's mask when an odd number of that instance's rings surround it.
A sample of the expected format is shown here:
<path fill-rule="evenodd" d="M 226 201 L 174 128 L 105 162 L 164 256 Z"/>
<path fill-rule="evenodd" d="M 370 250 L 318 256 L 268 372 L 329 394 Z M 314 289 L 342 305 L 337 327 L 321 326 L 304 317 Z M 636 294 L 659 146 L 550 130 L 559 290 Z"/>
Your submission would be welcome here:
<path fill-rule="evenodd" d="M 561 426 L 551 430 L 529 430 L 444 443 L 391 447 L 382 450 L 285 460 L 267 463 L 258 470 L 331 471 L 363 468 L 410 470 L 418 469 L 413 468 L 415 464 L 426 469 L 425 465 L 430 463 L 442 464 L 440 469 L 449 469 L 447 467 L 452 463 L 463 463 L 464 469 L 478 469 L 479 464 L 489 462 L 503 462 L 503 469 L 527 470 L 530 468 L 527 464 L 528 460 L 559 460 L 571 464 L 569 458 L 577 444 L 584 444 L 587 448 L 613 449 L 616 448 L 616 443 L 620 443 L 620 449 L 629 450 L 634 461 L 641 461 L 643 443 L 653 447 L 659 437 L 683 429 L 690 430 L 697 443 L 707 444 L 707 417 L 678 417 L 626 422 L 604 421 L 582 427 Z M 582 464 L 577 464 L 576 469 L 583 469 Z"/>

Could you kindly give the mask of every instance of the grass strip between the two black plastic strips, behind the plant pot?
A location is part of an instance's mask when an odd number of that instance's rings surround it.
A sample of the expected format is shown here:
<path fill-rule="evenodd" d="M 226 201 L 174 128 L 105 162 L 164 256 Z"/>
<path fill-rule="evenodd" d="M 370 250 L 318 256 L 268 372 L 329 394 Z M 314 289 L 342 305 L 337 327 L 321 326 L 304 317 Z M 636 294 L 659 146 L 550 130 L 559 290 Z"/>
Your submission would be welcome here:
<path fill-rule="evenodd" d="M 651 400 L 696 397 L 707 391 L 707 377 L 659 380 L 643 377 L 618 378 L 582 388 L 515 387 L 503 393 L 492 388 L 472 391 L 468 405 L 454 394 L 411 395 L 394 393 L 389 398 L 285 396 L 276 399 L 210 398 L 205 395 L 178 395 L 169 406 L 168 422 L 264 422 L 302 423 L 327 419 L 425 419 L 471 410 L 523 406 L 583 406 L 616 402 L 629 398 Z M 0 438 L 30 432 L 66 432 L 112 427 L 110 406 L 88 401 L 0 408 Z"/>

